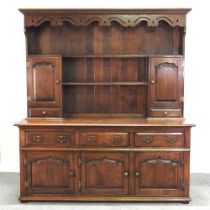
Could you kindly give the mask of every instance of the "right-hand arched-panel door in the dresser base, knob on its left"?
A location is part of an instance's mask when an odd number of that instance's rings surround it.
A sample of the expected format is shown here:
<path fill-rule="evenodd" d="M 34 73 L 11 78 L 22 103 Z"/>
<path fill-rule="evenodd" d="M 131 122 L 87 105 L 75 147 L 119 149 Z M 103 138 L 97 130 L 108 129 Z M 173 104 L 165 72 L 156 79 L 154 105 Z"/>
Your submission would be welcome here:
<path fill-rule="evenodd" d="M 140 152 L 135 154 L 135 194 L 140 196 L 182 196 L 185 192 L 182 152 Z"/>

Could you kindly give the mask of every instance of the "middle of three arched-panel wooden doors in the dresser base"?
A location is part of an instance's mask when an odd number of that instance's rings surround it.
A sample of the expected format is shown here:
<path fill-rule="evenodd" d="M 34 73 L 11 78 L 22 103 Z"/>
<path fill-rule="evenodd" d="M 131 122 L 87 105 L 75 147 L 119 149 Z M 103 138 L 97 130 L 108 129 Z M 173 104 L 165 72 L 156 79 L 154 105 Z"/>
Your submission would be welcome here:
<path fill-rule="evenodd" d="M 128 194 L 129 165 L 126 153 L 81 153 L 81 194 Z"/>

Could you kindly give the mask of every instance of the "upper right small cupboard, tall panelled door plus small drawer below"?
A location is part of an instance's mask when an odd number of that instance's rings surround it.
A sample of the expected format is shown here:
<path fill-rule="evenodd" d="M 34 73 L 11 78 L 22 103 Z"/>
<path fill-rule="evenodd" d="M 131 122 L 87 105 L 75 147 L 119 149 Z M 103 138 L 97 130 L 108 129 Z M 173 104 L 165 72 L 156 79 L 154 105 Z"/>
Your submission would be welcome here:
<path fill-rule="evenodd" d="M 149 59 L 150 117 L 179 117 L 183 109 L 182 57 Z"/>

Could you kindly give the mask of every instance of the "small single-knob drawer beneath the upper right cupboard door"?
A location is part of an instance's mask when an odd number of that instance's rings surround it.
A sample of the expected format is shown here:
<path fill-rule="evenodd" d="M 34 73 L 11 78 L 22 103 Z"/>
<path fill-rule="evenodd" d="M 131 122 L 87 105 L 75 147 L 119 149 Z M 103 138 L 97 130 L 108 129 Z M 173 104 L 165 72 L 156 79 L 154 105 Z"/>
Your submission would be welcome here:
<path fill-rule="evenodd" d="M 181 109 L 150 109 L 150 117 L 181 117 Z"/>

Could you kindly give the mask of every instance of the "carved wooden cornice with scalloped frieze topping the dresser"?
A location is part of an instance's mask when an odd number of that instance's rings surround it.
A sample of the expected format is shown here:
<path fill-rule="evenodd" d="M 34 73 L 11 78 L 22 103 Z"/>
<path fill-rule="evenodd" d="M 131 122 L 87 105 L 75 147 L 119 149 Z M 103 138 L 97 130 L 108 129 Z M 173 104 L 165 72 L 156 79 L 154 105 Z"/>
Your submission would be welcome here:
<path fill-rule="evenodd" d="M 124 27 L 135 27 L 140 22 L 158 26 L 160 21 L 170 26 L 185 27 L 186 14 L 190 9 L 20 9 L 25 16 L 25 27 L 40 26 L 50 22 L 62 26 L 68 22 L 74 26 L 87 26 L 98 22 L 99 26 L 110 26 L 118 22 Z"/>

